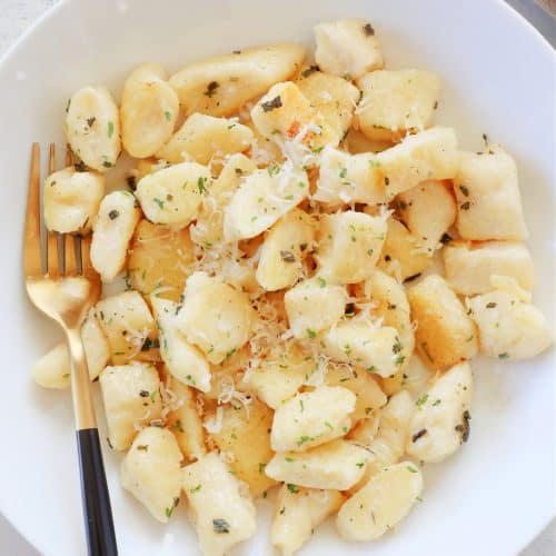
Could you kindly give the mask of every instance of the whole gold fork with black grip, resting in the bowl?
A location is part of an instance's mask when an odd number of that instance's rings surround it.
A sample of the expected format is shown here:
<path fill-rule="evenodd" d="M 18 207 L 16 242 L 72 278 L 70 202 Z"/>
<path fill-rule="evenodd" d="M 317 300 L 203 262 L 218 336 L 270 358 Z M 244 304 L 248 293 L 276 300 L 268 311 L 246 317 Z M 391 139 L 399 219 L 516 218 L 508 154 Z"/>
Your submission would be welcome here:
<path fill-rule="evenodd" d="M 71 152 L 66 153 L 67 166 Z M 50 143 L 49 173 L 54 171 Z M 47 231 L 42 257 L 40 216 L 40 148 L 32 146 L 31 173 L 23 235 L 23 278 L 31 301 L 66 332 L 71 359 L 71 394 L 76 417 L 81 497 L 89 555 L 116 556 L 116 534 L 99 443 L 81 324 L 100 296 L 100 278 L 90 261 L 90 238 Z M 44 260 L 44 265 L 43 265 Z"/>

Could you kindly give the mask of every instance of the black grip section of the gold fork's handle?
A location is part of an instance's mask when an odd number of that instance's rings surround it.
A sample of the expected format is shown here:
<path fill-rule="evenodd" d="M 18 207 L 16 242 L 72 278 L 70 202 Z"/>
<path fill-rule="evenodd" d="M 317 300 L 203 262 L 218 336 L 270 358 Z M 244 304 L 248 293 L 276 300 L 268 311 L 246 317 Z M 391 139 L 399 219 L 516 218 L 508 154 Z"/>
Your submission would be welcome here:
<path fill-rule="evenodd" d="M 78 430 L 77 446 L 89 555 L 117 556 L 118 547 L 98 429 Z"/>

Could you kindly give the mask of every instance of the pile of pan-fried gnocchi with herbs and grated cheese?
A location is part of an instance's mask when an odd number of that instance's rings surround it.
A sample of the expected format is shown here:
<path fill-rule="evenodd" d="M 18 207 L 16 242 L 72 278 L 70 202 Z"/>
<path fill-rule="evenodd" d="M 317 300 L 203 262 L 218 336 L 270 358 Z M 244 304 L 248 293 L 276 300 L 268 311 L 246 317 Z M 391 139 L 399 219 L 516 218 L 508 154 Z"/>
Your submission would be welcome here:
<path fill-rule="evenodd" d="M 368 21 L 315 39 L 140 66 L 119 107 L 78 90 L 44 182 L 107 286 L 82 341 L 121 485 L 162 523 L 187 504 L 208 556 L 275 489 L 285 555 L 329 516 L 381 537 L 469 439 L 473 357 L 553 341 L 512 157 L 433 125 L 440 79 L 385 69 Z M 34 378 L 69 386 L 63 344 Z"/>

